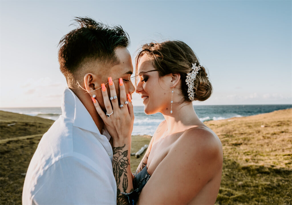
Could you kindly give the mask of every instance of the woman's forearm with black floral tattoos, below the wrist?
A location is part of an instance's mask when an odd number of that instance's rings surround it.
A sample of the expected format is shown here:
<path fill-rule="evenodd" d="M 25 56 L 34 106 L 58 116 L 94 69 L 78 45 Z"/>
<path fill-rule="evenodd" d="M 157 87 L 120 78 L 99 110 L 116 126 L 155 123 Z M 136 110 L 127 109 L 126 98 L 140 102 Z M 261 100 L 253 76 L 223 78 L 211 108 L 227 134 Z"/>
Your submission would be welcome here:
<path fill-rule="evenodd" d="M 128 201 L 121 192 L 133 191 L 132 173 L 130 167 L 131 148 L 126 146 L 113 147 L 113 172 L 117 182 L 117 204 L 127 204 Z"/>

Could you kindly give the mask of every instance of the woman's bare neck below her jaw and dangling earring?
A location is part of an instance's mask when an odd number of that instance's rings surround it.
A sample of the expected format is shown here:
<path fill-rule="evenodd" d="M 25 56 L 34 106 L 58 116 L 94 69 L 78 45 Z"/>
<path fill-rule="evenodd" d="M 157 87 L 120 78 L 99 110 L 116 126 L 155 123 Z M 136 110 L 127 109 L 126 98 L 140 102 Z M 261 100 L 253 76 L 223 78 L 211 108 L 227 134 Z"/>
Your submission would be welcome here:
<path fill-rule="evenodd" d="M 173 134 L 181 132 L 187 129 L 187 127 L 198 125 L 201 126 L 203 123 L 194 111 L 194 107 L 191 102 L 184 102 L 180 105 L 173 105 L 172 114 L 162 113 L 168 129 L 166 134 Z"/>

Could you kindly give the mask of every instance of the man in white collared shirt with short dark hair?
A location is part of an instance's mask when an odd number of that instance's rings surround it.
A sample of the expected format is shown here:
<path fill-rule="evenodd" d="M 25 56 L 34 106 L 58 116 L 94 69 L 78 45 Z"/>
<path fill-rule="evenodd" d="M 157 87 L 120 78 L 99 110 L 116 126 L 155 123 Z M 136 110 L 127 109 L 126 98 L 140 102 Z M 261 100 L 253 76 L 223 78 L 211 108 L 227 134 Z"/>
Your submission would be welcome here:
<path fill-rule="evenodd" d="M 91 97 L 95 90 L 105 111 L 99 88 L 108 77 L 116 85 L 123 78 L 126 92 L 134 92 L 128 34 L 120 26 L 88 17 L 75 20 L 77 28 L 59 43 L 60 70 L 69 87 L 63 94 L 62 115 L 32 157 L 22 204 L 116 204 L 110 136 Z"/>

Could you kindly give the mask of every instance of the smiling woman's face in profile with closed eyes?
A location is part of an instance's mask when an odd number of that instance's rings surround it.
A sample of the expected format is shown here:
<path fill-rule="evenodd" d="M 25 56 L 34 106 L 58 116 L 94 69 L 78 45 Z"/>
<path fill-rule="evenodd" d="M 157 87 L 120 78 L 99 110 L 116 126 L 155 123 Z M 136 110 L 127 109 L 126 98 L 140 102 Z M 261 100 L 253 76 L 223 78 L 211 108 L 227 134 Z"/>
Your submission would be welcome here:
<path fill-rule="evenodd" d="M 145 105 L 144 112 L 147 115 L 158 112 L 169 113 L 171 106 L 171 78 L 169 76 L 159 77 L 158 72 L 153 70 L 155 68 L 151 60 L 147 58 L 147 55 L 140 57 L 138 84 L 135 92 L 141 94 Z"/>

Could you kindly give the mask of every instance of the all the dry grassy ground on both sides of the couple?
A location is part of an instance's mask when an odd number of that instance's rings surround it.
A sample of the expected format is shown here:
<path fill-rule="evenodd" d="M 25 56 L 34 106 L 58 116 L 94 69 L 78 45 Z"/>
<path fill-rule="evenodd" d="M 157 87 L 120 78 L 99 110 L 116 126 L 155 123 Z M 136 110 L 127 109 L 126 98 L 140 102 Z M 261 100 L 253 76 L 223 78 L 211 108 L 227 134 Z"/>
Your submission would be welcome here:
<path fill-rule="evenodd" d="M 1 140 L 44 133 L 53 123 L 3 111 L 0 115 Z M 18 126 L 7 128 L 11 123 Z M 224 152 L 216 204 L 292 204 L 292 109 L 208 121 L 206 125 L 219 136 Z M 40 139 L 35 136 L 1 143 L 0 204 L 21 204 L 25 178 L 22 174 L 26 172 Z M 147 135 L 132 136 L 131 152 L 138 151 L 150 140 Z M 141 158 L 131 156 L 133 172 Z"/>

